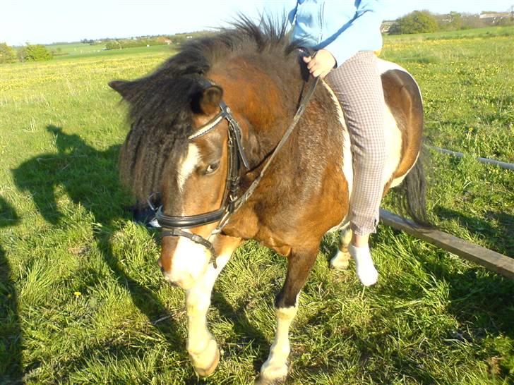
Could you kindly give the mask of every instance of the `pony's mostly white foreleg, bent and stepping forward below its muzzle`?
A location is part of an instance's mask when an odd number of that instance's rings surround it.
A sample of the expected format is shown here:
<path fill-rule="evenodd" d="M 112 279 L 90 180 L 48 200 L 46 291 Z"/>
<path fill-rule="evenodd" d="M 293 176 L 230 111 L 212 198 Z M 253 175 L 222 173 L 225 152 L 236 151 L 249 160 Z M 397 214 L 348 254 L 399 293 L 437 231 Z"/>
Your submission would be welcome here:
<path fill-rule="evenodd" d="M 205 275 L 191 289 L 186 291 L 186 311 L 188 317 L 187 351 L 193 362 L 193 367 L 201 377 L 207 377 L 214 372 L 220 361 L 220 350 L 207 328 L 207 312 L 210 306 L 210 295 L 213 291 L 217 276 L 227 264 L 232 252 L 236 250 L 241 240 L 239 238 L 219 237 L 216 243 L 217 269 L 210 264 Z M 221 247 L 220 247 L 221 244 Z"/>

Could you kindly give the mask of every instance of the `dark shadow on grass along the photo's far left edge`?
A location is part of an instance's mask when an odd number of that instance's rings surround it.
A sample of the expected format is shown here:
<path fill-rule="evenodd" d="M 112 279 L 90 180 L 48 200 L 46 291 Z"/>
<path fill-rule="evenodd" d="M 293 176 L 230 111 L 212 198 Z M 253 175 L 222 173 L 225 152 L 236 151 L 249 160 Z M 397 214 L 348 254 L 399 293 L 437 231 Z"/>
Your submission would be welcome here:
<path fill-rule="evenodd" d="M 0 228 L 18 223 L 18 215 L 0 197 Z M 11 278 L 11 266 L 0 243 L 0 384 L 21 384 L 21 327 L 18 294 Z"/>

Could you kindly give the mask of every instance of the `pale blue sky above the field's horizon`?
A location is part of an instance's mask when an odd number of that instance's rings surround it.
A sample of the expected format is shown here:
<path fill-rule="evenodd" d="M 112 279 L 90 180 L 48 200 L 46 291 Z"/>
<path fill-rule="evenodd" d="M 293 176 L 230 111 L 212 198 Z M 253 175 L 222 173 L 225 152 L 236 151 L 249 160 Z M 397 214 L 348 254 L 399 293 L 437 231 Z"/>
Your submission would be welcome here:
<path fill-rule="evenodd" d="M 347 0 L 331 0 L 347 1 Z M 2 0 L 0 42 L 10 45 L 72 42 L 101 37 L 172 35 L 220 27 L 238 12 L 280 14 L 294 0 Z M 479 13 L 508 11 L 514 0 L 386 0 L 386 18 L 414 10 Z"/>

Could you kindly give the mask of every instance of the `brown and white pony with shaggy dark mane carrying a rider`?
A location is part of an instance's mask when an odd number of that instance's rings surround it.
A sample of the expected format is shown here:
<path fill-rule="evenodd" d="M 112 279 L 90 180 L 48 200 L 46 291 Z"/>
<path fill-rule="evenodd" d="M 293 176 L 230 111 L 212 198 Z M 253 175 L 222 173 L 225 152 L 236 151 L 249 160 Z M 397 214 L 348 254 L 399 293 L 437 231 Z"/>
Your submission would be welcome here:
<path fill-rule="evenodd" d="M 384 193 L 405 178 L 407 206 L 419 214 L 424 209 L 417 162 L 422 98 L 407 71 L 386 61 L 379 66 L 386 95 Z M 258 27 L 243 20 L 233 30 L 193 39 L 145 78 L 110 85 L 130 107 L 121 177 L 141 205 L 158 192 L 162 216 L 188 217 L 215 212 L 227 198 L 229 122 L 212 122 L 223 102 L 239 124 L 249 162 L 248 169 L 238 169 L 241 194 L 257 178 L 297 112 L 306 70 L 285 27 Z M 271 383 L 287 375 L 289 325 L 297 314 L 299 293 L 321 238 L 330 229 L 342 228 L 349 212 L 352 152 L 343 116 L 330 87 L 320 82 L 253 195 L 229 216 L 220 233 L 214 231 L 218 220 L 162 238 L 158 264 L 167 281 L 186 291 L 187 350 L 201 376 L 211 374 L 220 359 L 206 324 L 213 284 L 234 250 L 249 239 L 288 260 L 285 283 L 275 299 L 275 341 L 258 381 Z M 199 128 L 205 133 L 196 136 Z M 333 267 L 347 267 L 350 235 L 342 233 Z M 208 246 L 191 239 L 194 236 L 208 240 L 216 257 Z"/>

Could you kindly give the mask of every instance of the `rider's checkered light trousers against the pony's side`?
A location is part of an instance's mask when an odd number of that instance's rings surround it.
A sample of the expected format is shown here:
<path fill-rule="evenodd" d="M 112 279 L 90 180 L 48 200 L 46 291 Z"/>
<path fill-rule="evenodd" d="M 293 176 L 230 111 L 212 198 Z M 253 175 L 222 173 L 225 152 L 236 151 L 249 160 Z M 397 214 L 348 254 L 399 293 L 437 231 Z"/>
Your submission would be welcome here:
<path fill-rule="evenodd" d="M 376 60 L 372 51 L 358 52 L 325 78 L 349 130 L 354 169 L 349 221 L 359 235 L 376 231 L 386 163 L 384 97 Z"/>

